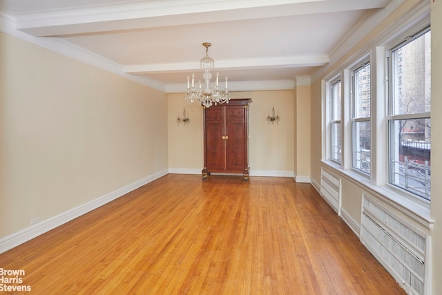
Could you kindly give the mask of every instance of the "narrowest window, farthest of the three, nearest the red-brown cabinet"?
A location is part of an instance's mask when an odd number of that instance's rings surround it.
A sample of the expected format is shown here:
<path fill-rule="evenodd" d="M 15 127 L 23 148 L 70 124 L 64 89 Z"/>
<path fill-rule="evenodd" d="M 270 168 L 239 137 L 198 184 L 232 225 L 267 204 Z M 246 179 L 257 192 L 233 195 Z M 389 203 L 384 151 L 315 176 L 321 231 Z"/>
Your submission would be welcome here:
<path fill-rule="evenodd" d="M 332 84 L 330 91 L 330 158 L 341 161 L 340 81 Z"/>

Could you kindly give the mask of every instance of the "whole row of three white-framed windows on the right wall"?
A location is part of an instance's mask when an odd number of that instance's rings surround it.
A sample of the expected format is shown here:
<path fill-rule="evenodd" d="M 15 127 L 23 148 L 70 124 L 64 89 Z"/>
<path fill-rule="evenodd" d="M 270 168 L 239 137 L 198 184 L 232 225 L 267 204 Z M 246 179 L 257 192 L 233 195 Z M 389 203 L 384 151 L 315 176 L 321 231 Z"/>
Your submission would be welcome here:
<path fill-rule="evenodd" d="M 387 32 L 323 80 L 325 164 L 410 211 L 431 202 L 429 23 Z"/>

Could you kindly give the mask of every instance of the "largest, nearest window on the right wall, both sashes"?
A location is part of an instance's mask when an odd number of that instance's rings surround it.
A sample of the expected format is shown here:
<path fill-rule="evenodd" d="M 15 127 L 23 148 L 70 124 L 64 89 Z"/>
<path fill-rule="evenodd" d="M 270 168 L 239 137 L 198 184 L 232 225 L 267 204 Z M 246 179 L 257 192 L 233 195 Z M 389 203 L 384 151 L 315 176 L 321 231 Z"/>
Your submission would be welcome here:
<path fill-rule="evenodd" d="M 390 50 L 390 184 L 431 199 L 430 29 Z"/>

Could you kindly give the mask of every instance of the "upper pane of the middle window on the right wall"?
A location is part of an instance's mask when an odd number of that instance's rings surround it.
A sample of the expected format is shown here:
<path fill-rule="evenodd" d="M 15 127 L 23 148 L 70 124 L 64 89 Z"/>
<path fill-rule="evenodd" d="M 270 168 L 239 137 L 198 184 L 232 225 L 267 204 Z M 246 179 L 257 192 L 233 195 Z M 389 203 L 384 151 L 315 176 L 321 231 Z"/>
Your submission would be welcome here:
<path fill-rule="evenodd" d="M 370 117 L 370 65 L 354 72 L 354 117 Z"/>

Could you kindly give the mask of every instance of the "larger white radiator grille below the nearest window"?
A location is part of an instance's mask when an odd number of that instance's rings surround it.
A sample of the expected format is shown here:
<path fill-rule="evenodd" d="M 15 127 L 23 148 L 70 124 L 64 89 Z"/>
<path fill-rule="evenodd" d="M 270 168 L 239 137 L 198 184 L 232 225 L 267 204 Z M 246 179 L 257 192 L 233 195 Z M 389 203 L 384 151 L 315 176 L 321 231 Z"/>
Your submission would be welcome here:
<path fill-rule="evenodd" d="M 361 240 L 384 267 L 413 294 L 424 294 L 425 235 L 364 198 Z"/>

